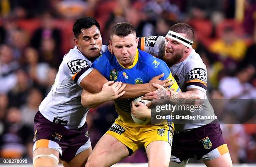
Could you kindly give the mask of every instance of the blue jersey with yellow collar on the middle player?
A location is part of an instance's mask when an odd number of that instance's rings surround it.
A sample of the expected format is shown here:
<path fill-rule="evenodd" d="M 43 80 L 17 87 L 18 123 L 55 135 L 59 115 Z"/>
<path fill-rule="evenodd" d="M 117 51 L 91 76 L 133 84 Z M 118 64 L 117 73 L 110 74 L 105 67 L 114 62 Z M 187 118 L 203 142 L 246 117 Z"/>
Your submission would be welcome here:
<path fill-rule="evenodd" d="M 148 83 L 153 77 L 164 73 L 161 80 L 172 78 L 174 84 L 171 88 L 179 91 L 179 86 L 166 63 L 139 49 L 137 49 L 133 64 L 127 68 L 122 66 L 109 51 L 99 56 L 93 62 L 92 67 L 100 71 L 109 81 L 121 81 L 129 84 Z M 127 123 L 134 123 L 130 107 L 132 100 L 115 100 L 115 109 L 119 114 L 119 119 Z"/>

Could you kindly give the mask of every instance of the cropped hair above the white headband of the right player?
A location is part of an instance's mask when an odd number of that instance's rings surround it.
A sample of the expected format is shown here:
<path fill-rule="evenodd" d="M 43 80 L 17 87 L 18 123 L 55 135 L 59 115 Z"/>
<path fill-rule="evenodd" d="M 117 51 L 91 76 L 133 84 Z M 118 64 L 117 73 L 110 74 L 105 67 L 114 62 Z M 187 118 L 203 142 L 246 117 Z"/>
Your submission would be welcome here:
<path fill-rule="evenodd" d="M 192 40 L 194 41 L 195 40 L 195 33 L 194 33 L 194 30 L 193 28 L 186 24 L 186 23 L 177 23 L 177 24 L 174 24 L 171 28 L 170 28 L 171 31 L 174 31 L 175 33 L 183 33 L 183 34 L 186 34 L 187 35 L 187 38 L 189 40 Z"/>

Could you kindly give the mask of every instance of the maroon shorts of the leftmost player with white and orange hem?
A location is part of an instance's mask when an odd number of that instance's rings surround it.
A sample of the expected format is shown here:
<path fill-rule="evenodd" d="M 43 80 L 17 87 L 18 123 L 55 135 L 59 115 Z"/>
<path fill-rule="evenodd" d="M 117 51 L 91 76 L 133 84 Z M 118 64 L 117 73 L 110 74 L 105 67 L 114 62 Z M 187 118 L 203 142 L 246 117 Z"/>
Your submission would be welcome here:
<path fill-rule="evenodd" d="M 87 123 L 79 129 L 67 129 L 46 119 L 40 111 L 34 117 L 33 151 L 38 147 L 56 149 L 63 161 L 71 161 L 77 154 L 91 147 Z"/>

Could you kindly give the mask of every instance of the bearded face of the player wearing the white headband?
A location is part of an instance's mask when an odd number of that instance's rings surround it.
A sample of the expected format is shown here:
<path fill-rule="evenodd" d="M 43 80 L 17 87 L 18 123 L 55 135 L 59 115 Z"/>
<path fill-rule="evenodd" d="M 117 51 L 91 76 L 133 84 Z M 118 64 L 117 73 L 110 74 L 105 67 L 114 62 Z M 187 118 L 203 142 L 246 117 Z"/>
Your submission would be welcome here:
<path fill-rule="evenodd" d="M 183 33 L 180 33 L 180 34 L 185 36 L 185 34 Z M 185 53 L 186 46 L 168 37 L 165 37 L 164 45 L 165 45 L 165 48 L 164 48 L 163 60 L 168 65 L 173 65 L 178 63 L 181 60 L 183 54 Z"/>

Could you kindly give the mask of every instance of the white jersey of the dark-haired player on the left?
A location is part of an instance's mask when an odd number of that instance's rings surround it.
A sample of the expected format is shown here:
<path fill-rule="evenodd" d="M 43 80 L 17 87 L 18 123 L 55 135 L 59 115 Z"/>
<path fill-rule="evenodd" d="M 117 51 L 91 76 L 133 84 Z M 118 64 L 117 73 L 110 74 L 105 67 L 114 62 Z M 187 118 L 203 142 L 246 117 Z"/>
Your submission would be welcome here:
<path fill-rule="evenodd" d="M 108 50 L 102 45 L 101 54 Z M 89 108 L 81 104 L 80 82 L 92 71 L 92 62 L 75 46 L 67 53 L 56 75 L 51 91 L 41 102 L 39 111 L 49 121 L 59 121 L 68 129 L 82 127 Z"/>

